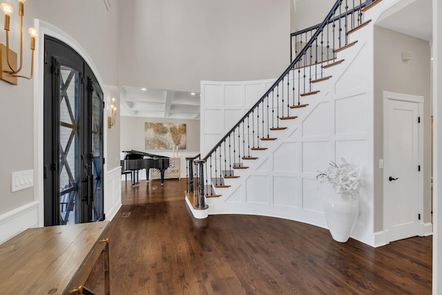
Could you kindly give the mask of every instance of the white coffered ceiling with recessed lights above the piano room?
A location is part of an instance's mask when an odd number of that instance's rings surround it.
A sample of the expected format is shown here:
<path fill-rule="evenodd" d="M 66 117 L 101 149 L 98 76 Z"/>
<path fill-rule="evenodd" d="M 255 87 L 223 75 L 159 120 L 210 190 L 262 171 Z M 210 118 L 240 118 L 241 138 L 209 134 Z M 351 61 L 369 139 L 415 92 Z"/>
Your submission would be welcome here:
<path fill-rule="evenodd" d="M 200 119 L 200 93 L 122 86 L 120 115 Z"/>

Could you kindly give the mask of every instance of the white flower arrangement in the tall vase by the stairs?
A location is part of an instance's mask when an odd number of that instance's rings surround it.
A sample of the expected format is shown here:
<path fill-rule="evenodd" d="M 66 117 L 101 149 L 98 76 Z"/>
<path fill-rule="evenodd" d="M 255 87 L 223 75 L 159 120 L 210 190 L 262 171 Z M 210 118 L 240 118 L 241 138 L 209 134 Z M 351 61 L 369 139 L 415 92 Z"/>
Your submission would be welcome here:
<path fill-rule="evenodd" d="M 362 185 L 359 175 L 359 169 L 353 164 L 349 164 L 344 158 L 340 159 L 343 164 L 338 166 L 335 162 L 330 161 L 325 171 L 319 172 L 316 179 L 320 182 L 329 182 L 332 184 L 336 193 L 350 193 L 352 196 Z"/>

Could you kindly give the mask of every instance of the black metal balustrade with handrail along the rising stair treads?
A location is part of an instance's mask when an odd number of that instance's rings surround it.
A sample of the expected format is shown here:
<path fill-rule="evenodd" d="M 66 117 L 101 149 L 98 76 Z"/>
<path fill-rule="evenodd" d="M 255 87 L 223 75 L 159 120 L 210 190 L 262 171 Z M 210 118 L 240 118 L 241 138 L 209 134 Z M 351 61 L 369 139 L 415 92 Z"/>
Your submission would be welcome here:
<path fill-rule="evenodd" d="M 349 10 L 348 3 L 350 1 L 352 0 L 337 0 L 334 3 L 327 17 L 314 32 L 311 32 L 309 41 L 300 48 L 295 59 L 276 79 L 276 82 L 204 158 L 195 161 L 198 164 L 196 170 L 198 170 L 199 190 L 196 202 L 199 208 L 205 207 L 206 196 L 214 195 L 214 187 L 227 187 L 224 183 L 225 178 L 238 177 L 233 171 L 247 168 L 247 160 L 255 159 L 251 155 L 251 151 L 266 149 L 260 146 L 260 142 L 275 140 L 270 137 L 269 131 L 284 129 L 279 125 L 281 120 L 296 118 L 296 116 L 289 114 L 291 108 L 307 106 L 306 97 L 312 93 L 312 83 L 323 78 L 322 66 L 332 64 L 336 59 L 334 54 L 332 58 L 325 59 L 324 53 L 320 54 L 320 59 L 317 58 L 318 54 L 313 58 L 313 50 L 317 50 L 318 42 L 323 44 L 324 30 L 329 30 L 330 23 L 332 23 L 333 30 L 340 32 L 340 34 L 344 31 L 342 34 L 346 35 L 348 30 L 354 28 L 353 24 L 349 26 L 347 21 L 339 21 L 342 18 L 336 17 L 336 15 L 342 15 L 343 10 L 347 15 L 349 15 L 349 11 L 358 11 L 354 13 L 361 11 L 360 8 L 363 7 L 361 1 L 358 1 L 358 6 L 353 4 L 353 8 Z M 359 19 L 361 17 L 358 15 Z M 358 22 L 360 21 L 358 20 Z M 327 48 L 334 53 L 338 48 L 337 45 L 347 44 L 347 38 L 341 41 L 342 43 L 338 44 L 335 42 L 330 44 L 327 41 Z"/>

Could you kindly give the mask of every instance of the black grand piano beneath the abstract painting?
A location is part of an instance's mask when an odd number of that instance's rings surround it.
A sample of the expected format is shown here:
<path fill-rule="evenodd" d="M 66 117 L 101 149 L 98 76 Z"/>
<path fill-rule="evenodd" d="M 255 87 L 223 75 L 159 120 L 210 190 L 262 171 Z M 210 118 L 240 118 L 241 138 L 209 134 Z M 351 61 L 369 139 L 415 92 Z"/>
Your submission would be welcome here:
<path fill-rule="evenodd" d="M 121 160 L 122 171 L 131 171 L 132 185 L 138 184 L 138 172 L 146 169 L 146 178 L 151 168 L 160 170 L 161 185 L 164 184 L 164 171 L 169 168 L 169 157 L 162 155 L 153 155 L 152 153 L 144 153 L 142 151 L 123 151 L 124 160 Z"/>

